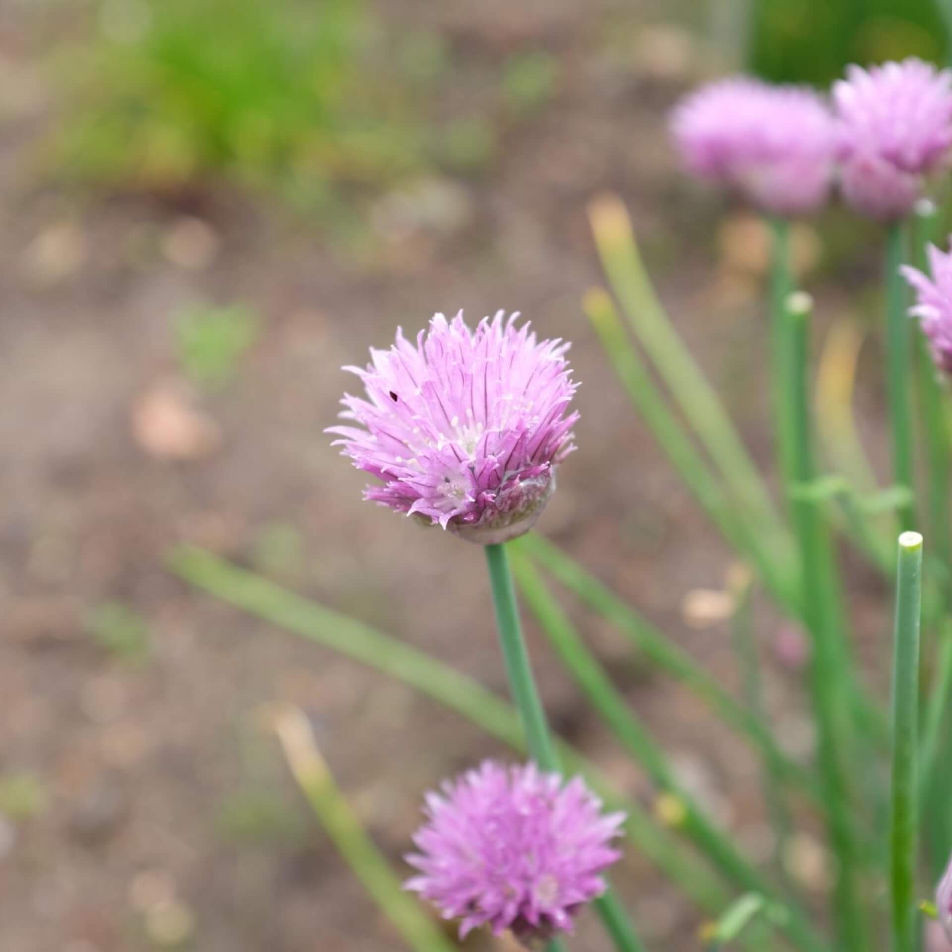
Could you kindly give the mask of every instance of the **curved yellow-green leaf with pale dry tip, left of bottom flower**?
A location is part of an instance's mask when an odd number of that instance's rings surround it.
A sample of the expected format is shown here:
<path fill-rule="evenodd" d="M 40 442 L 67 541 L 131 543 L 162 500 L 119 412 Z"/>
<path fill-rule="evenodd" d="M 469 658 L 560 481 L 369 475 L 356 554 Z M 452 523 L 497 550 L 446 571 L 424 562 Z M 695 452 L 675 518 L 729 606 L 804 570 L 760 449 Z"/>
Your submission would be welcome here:
<path fill-rule="evenodd" d="M 454 942 L 426 915 L 405 890 L 387 858 L 347 803 L 314 742 L 305 713 L 296 707 L 274 712 L 291 774 L 327 835 L 387 919 L 415 952 L 456 952 Z"/>

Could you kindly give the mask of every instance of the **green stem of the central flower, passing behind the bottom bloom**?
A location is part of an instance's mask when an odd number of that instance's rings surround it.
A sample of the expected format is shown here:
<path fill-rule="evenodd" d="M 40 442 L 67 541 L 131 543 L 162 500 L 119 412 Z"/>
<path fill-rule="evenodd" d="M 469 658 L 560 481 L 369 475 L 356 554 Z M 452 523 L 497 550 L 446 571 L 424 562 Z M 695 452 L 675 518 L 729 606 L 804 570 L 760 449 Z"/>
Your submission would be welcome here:
<path fill-rule="evenodd" d="M 519 608 L 509 572 L 506 545 L 486 545 L 486 566 L 489 570 L 492 605 L 496 613 L 499 644 L 506 664 L 509 692 L 526 731 L 529 755 L 541 769 L 561 772 L 562 762 L 552 741 L 545 719 L 545 708 L 532 676 L 532 665 L 519 622 Z M 610 885 L 594 904 L 605 924 L 605 931 L 619 952 L 645 952 L 645 946 Z M 565 943 L 562 940 L 553 940 L 547 943 L 546 948 L 549 952 L 560 952 L 565 949 Z"/>

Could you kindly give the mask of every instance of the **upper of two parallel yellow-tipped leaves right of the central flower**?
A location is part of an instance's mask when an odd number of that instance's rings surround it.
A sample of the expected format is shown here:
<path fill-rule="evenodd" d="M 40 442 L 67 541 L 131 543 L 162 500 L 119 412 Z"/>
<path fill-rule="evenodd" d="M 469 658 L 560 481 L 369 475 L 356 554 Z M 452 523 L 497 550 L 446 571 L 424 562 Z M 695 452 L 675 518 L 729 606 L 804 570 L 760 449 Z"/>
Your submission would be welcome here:
<path fill-rule="evenodd" d="M 714 387 L 671 326 L 645 271 L 624 205 L 615 197 L 602 198 L 592 204 L 590 217 L 608 282 L 635 336 L 724 475 L 731 495 L 744 506 L 750 524 L 789 558 L 789 533 Z"/>

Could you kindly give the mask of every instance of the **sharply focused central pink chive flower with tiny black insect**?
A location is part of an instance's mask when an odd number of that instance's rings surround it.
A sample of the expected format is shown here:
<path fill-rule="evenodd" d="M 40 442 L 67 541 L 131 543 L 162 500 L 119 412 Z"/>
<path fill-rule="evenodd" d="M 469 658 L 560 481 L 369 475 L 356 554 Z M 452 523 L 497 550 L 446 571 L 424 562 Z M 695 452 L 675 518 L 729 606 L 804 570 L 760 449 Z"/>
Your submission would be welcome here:
<path fill-rule="evenodd" d="M 554 489 L 555 467 L 575 447 L 578 385 L 569 345 L 536 340 L 503 311 L 475 330 L 462 311 L 437 314 L 416 345 L 397 331 L 367 369 L 345 367 L 367 399 L 347 394 L 332 426 L 354 466 L 383 481 L 365 498 L 483 545 L 522 535 Z"/>

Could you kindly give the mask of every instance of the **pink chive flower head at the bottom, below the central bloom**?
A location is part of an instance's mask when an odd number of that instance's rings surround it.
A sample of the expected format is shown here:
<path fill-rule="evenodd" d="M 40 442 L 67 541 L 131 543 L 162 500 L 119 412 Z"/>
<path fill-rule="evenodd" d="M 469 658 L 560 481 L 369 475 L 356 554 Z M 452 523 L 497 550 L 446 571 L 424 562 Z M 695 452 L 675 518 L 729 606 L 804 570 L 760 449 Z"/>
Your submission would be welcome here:
<path fill-rule="evenodd" d="M 581 778 L 486 762 L 426 796 L 407 889 L 462 919 L 461 937 L 484 924 L 526 944 L 570 932 L 621 856 L 611 841 L 625 815 L 601 806 Z"/>

